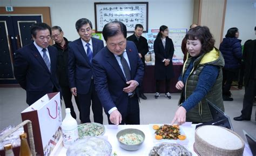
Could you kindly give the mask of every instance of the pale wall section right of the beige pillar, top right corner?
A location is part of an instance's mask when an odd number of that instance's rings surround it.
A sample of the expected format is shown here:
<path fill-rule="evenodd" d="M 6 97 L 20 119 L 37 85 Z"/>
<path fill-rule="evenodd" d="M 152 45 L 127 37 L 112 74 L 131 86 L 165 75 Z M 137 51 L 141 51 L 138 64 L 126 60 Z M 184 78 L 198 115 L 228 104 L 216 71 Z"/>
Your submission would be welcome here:
<path fill-rule="evenodd" d="M 223 38 L 227 30 L 232 27 L 239 29 L 239 39 L 242 44 L 248 39 L 256 39 L 254 26 L 256 26 L 256 0 L 227 0 Z"/>

